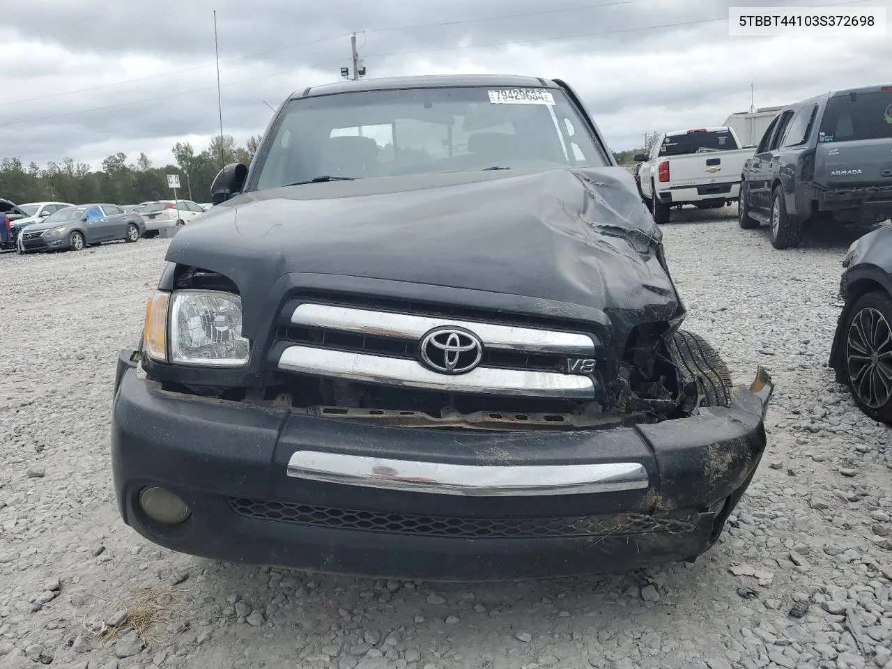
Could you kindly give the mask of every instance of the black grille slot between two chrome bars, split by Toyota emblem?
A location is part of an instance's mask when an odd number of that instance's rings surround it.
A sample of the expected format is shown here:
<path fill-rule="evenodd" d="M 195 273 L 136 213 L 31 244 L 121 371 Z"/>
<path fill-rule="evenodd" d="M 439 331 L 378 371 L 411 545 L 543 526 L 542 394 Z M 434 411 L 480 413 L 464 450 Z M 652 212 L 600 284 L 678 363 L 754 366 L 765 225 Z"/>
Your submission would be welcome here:
<path fill-rule="evenodd" d="M 306 326 L 279 326 L 276 338 L 289 343 L 303 343 L 336 351 L 356 351 L 392 358 L 416 359 L 417 341 L 392 337 L 354 335 Z M 562 371 L 567 356 L 529 354 L 516 351 L 483 351 L 483 367 Z"/>

